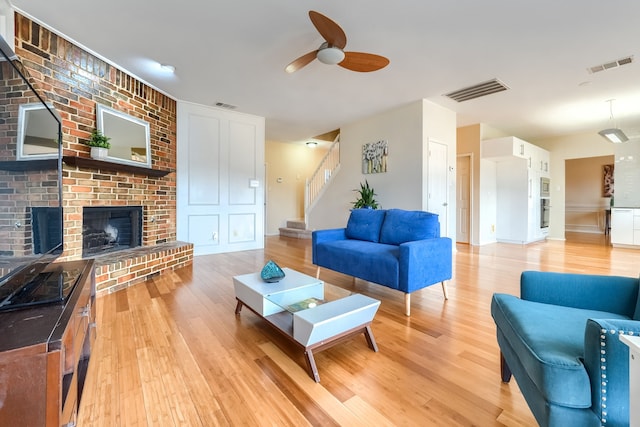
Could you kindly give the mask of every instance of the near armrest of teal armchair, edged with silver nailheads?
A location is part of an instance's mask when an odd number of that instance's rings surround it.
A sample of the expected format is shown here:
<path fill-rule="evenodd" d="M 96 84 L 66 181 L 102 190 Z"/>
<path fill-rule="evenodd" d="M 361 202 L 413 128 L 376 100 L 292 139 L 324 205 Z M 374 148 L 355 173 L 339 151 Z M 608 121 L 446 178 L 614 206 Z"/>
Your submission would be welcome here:
<path fill-rule="evenodd" d="M 584 364 L 591 382 L 591 409 L 606 425 L 629 425 L 629 347 L 618 335 L 640 335 L 640 321 L 589 319 Z"/>

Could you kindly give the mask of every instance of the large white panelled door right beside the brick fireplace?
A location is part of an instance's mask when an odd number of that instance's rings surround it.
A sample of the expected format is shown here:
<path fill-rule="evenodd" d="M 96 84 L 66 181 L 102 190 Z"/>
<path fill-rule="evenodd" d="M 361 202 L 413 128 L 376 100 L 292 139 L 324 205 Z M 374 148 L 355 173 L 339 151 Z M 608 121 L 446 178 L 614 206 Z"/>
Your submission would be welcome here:
<path fill-rule="evenodd" d="M 194 255 L 264 247 L 264 119 L 178 103 L 178 240 Z"/>

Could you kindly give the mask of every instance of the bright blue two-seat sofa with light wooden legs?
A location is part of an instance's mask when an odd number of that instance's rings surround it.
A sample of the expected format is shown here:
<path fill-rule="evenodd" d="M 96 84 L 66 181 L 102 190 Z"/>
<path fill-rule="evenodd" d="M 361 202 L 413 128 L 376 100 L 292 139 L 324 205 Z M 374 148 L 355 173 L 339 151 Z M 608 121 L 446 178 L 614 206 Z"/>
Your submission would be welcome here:
<path fill-rule="evenodd" d="M 345 228 L 312 233 L 313 263 L 405 293 L 451 279 L 452 242 L 440 237 L 438 215 L 402 209 L 354 209 Z"/>

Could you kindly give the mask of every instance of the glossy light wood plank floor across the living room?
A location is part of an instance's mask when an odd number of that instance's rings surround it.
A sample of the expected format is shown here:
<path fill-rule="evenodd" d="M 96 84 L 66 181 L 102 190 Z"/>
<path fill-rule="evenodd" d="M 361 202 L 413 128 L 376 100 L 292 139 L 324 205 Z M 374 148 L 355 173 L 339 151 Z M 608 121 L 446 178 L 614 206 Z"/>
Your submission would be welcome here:
<path fill-rule="evenodd" d="M 640 251 L 601 235 L 527 246 L 457 245 L 449 300 L 440 286 L 403 296 L 323 270 L 327 282 L 382 301 L 372 328 L 304 358 L 249 310 L 234 315 L 231 277 L 268 259 L 313 275 L 309 240 L 196 257 L 192 267 L 100 297 L 80 426 L 534 426 L 515 381 L 500 382 L 494 292 L 518 294 L 525 269 L 637 276 Z"/>

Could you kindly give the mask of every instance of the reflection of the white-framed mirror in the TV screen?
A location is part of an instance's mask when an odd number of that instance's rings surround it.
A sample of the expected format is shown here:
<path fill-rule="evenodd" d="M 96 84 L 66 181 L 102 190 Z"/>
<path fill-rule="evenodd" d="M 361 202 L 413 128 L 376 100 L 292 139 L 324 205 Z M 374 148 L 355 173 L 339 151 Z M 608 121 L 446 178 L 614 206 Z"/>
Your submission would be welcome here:
<path fill-rule="evenodd" d="M 47 104 L 48 105 L 48 104 Z M 58 122 L 42 103 L 22 104 L 18 111 L 18 160 L 55 159 L 58 157 Z"/>

